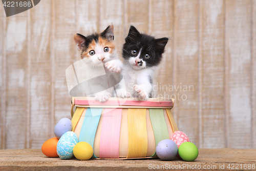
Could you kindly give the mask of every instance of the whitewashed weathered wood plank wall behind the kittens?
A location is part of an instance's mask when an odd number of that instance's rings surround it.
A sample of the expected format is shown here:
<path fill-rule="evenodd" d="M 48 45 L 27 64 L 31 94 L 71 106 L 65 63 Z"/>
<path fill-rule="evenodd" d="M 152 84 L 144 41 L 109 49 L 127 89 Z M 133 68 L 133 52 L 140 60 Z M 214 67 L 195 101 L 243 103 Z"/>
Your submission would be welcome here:
<path fill-rule="evenodd" d="M 131 24 L 170 38 L 156 79 L 160 94 L 176 97 L 175 119 L 192 142 L 256 147 L 256 0 L 44 0 L 10 17 L 0 5 L 2 149 L 54 137 L 57 121 L 70 118 L 73 35 L 110 23 L 119 50 Z"/>

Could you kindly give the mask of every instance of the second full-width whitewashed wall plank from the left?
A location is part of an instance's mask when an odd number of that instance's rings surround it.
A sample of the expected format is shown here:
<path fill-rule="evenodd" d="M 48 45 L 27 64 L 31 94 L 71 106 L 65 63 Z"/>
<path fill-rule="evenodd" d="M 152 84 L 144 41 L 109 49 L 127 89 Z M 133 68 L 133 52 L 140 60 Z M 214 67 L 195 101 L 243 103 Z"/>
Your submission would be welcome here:
<path fill-rule="evenodd" d="M 51 1 L 31 9 L 30 35 L 30 137 L 28 148 L 36 148 L 52 136 L 51 125 Z M 39 97 L 39 98 L 38 98 Z M 41 130 L 44 131 L 41 131 Z"/>

